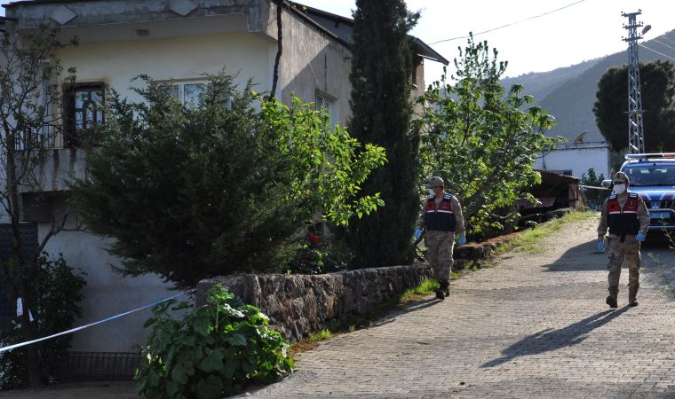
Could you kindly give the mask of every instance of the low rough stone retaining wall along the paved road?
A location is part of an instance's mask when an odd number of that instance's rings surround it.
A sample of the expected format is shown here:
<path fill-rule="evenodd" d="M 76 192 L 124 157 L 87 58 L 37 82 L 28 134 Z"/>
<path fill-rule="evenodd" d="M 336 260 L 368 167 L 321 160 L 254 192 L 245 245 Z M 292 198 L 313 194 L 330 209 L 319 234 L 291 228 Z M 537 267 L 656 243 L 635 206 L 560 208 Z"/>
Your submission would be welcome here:
<path fill-rule="evenodd" d="M 426 264 L 351 270 L 322 275 L 239 275 L 197 285 L 197 305 L 218 283 L 270 317 L 289 340 L 300 340 L 334 323 L 367 316 L 385 301 L 432 277 Z"/>

